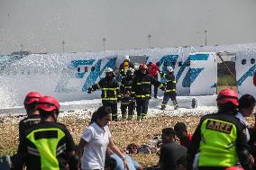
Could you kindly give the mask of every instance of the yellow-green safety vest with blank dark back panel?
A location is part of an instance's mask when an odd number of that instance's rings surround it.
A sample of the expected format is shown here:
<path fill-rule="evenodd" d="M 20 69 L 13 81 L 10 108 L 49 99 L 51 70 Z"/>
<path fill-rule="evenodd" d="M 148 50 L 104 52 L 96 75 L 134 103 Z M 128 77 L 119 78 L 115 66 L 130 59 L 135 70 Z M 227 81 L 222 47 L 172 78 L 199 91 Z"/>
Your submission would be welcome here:
<path fill-rule="evenodd" d="M 59 170 L 57 157 L 66 150 L 66 144 L 57 148 L 65 133 L 58 128 L 33 130 L 26 136 L 36 148 L 27 147 L 28 153 L 41 157 L 41 170 Z"/>

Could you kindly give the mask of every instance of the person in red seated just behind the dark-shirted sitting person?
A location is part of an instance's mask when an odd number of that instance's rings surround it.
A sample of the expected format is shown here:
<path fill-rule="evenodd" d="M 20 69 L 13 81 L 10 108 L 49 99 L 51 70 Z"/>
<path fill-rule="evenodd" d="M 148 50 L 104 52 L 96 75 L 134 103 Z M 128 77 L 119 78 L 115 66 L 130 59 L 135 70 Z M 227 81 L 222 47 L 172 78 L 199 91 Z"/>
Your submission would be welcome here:
<path fill-rule="evenodd" d="M 184 122 L 178 122 L 174 125 L 176 136 L 179 139 L 180 145 L 188 147 L 189 142 L 192 140 L 192 134 L 187 133 L 187 126 Z"/>

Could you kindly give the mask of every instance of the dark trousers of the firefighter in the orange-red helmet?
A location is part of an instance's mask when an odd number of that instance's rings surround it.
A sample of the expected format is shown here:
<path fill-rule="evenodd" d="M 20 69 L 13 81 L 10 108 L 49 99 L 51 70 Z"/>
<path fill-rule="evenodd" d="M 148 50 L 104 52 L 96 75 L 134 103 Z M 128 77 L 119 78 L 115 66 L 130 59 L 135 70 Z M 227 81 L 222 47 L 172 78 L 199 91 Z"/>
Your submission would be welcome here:
<path fill-rule="evenodd" d="M 150 99 L 136 99 L 137 119 L 144 119 L 147 116 Z"/>

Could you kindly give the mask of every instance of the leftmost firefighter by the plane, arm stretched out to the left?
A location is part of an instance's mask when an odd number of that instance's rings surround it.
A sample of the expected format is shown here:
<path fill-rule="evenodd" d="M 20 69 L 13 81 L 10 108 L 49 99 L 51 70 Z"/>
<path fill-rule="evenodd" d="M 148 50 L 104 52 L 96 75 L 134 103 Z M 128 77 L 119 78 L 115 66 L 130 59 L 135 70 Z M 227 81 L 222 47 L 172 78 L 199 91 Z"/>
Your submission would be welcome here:
<path fill-rule="evenodd" d="M 105 68 L 105 78 L 101 79 L 97 84 L 87 89 L 88 94 L 102 89 L 101 99 L 105 106 L 112 110 L 112 120 L 117 121 L 117 100 L 120 101 L 119 84 L 114 78 L 114 70 L 110 67 Z"/>

